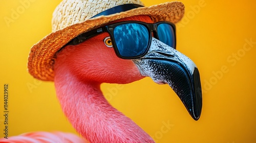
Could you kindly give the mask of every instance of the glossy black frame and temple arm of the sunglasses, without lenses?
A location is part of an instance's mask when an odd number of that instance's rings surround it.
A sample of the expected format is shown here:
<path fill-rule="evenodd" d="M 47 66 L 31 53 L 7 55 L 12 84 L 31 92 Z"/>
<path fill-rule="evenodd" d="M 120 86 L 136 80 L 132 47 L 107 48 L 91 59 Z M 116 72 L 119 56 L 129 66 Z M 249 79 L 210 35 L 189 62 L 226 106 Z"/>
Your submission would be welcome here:
<path fill-rule="evenodd" d="M 145 52 L 139 56 L 134 56 L 134 57 L 123 57 L 120 55 L 119 51 L 118 51 L 118 47 L 116 46 L 116 42 L 115 42 L 115 39 L 114 39 L 114 29 L 119 26 L 119 25 L 123 25 L 123 24 L 126 24 L 126 23 L 138 23 L 140 25 L 143 25 L 146 27 L 146 29 L 148 30 L 148 44 L 147 44 L 147 48 L 145 50 Z M 176 27 L 174 25 L 174 23 L 172 22 L 168 22 L 168 21 L 160 21 L 160 22 L 156 22 L 156 23 L 145 23 L 145 22 L 141 22 L 141 21 L 122 21 L 122 22 L 117 22 L 117 23 L 113 23 L 111 25 L 107 25 L 107 26 L 103 26 L 101 28 L 97 28 L 97 29 L 94 29 L 94 30 L 91 30 L 89 32 L 86 32 L 86 33 L 82 33 L 80 35 L 78 35 L 77 37 L 75 37 L 74 39 L 72 39 L 70 42 L 68 42 L 66 45 L 77 45 L 77 44 L 80 44 L 98 34 L 101 34 L 103 32 L 108 32 L 110 34 L 110 38 L 111 38 L 111 41 L 112 41 L 112 45 L 113 45 L 113 48 L 114 48 L 114 51 L 116 53 L 116 55 L 119 57 L 119 58 L 122 58 L 122 59 L 137 59 L 137 58 L 141 58 L 143 56 L 146 55 L 146 53 L 148 52 L 148 50 L 150 49 L 150 45 L 151 45 L 151 41 L 152 41 L 152 33 L 154 35 L 154 37 L 156 39 L 159 40 L 159 37 L 158 37 L 158 34 L 157 34 L 157 27 L 159 25 L 161 25 L 162 23 L 167 23 L 168 25 L 170 25 L 173 30 L 174 30 L 174 49 L 176 49 Z"/>

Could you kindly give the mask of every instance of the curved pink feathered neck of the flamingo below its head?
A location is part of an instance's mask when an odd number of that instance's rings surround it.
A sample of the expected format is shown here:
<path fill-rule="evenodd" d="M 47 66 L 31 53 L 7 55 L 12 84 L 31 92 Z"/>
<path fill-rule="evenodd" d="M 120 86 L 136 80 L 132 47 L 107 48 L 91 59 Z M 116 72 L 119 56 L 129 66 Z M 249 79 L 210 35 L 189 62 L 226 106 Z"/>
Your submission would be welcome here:
<path fill-rule="evenodd" d="M 80 81 L 68 70 L 56 70 L 61 108 L 78 133 L 90 142 L 154 142 L 129 117 L 103 97 L 100 83 Z"/>

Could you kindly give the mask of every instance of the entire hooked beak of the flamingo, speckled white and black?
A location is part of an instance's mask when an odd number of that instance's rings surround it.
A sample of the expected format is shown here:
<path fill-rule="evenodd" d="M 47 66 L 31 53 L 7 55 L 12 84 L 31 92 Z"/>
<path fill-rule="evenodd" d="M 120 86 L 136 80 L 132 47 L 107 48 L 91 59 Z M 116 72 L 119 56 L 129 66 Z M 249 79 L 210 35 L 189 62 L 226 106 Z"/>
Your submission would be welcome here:
<path fill-rule="evenodd" d="M 151 77 L 158 84 L 168 84 L 179 96 L 189 114 L 198 120 L 202 110 L 200 75 L 188 57 L 152 37 L 148 53 L 134 63 L 142 76 Z"/>

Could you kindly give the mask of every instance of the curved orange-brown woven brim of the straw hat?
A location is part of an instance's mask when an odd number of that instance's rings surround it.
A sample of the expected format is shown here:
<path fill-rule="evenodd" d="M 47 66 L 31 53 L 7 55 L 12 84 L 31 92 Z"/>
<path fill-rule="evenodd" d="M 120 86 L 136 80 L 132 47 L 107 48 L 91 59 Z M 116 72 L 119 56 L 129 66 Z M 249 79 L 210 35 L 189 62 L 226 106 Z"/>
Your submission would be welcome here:
<path fill-rule="evenodd" d="M 170 21 L 176 23 L 184 14 L 184 5 L 180 2 L 168 2 L 151 7 L 140 7 L 108 16 L 99 16 L 71 25 L 47 35 L 31 47 L 28 58 L 28 71 L 36 79 L 54 81 L 55 54 L 62 46 L 81 33 L 91 31 L 109 22 L 136 15 L 148 15 L 154 22 Z"/>

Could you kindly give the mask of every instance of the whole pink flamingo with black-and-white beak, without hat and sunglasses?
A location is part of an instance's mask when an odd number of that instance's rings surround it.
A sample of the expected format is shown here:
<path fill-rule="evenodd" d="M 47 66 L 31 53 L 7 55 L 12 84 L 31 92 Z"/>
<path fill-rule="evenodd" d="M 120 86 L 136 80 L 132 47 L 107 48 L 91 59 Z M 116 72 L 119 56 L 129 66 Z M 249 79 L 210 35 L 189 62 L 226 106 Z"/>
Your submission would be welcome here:
<path fill-rule="evenodd" d="M 127 17 L 113 23 L 128 20 L 153 23 L 149 16 Z M 126 84 L 151 77 L 158 84 L 169 84 L 194 120 L 199 119 L 202 106 L 201 85 L 199 72 L 193 61 L 154 37 L 150 50 L 144 57 L 121 59 L 116 56 L 113 48 L 105 45 L 103 40 L 106 37 L 109 37 L 108 33 L 99 34 L 78 45 L 67 45 L 56 54 L 56 95 L 63 113 L 83 138 L 89 142 L 155 142 L 129 117 L 111 106 L 100 90 L 101 83 Z M 56 142 L 42 138 L 55 136 L 50 137 L 53 139 L 60 136 L 60 133 L 45 132 L 22 136 L 32 140 L 36 137 L 38 139 L 39 134 L 45 135 L 39 137 L 38 142 Z M 59 138 L 62 140 L 65 136 L 69 141 L 86 142 L 65 133 L 61 135 Z M 18 137 L 10 137 L 8 141 L 15 142 Z M 6 140 L 0 139 L 0 142 L 3 141 Z"/>

